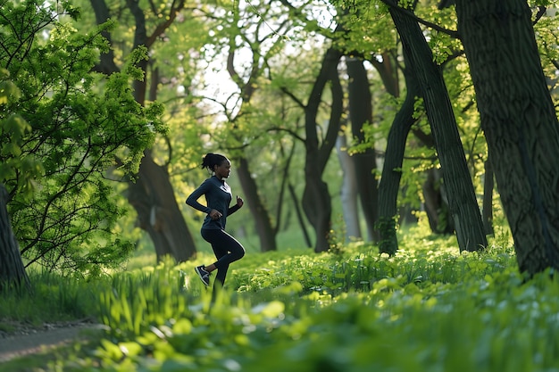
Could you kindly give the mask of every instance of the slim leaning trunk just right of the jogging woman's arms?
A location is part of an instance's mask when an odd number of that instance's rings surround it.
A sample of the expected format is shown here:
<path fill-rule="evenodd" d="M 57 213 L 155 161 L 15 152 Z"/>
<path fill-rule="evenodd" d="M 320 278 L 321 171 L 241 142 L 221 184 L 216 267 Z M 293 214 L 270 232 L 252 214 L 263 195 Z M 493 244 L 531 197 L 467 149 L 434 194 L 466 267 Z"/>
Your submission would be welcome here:
<path fill-rule="evenodd" d="M 276 235 L 271 226 L 270 215 L 258 195 L 258 186 L 250 175 L 246 158 L 238 159 L 237 174 L 245 192 L 246 203 L 254 217 L 256 233 L 260 238 L 260 250 L 262 252 L 276 251 L 278 247 L 276 246 Z"/>

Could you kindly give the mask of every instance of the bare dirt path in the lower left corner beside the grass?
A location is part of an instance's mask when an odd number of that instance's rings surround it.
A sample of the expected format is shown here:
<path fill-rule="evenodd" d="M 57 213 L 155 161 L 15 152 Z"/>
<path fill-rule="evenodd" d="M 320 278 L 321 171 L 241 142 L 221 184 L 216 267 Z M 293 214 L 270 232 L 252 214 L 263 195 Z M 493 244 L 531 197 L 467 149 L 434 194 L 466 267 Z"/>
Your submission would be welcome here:
<path fill-rule="evenodd" d="M 87 321 L 45 324 L 39 328 L 14 327 L 13 332 L 0 332 L 0 363 L 79 341 L 88 332 L 101 329 L 99 325 Z"/>

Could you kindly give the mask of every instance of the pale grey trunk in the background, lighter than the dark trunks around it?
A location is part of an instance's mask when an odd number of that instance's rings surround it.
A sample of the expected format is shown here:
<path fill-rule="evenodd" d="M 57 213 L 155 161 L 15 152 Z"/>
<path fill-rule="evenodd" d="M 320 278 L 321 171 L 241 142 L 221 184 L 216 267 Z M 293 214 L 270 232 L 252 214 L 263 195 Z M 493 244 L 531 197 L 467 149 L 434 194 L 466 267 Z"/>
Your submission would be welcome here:
<path fill-rule="evenodd" d="M 346 151 L 347 139 L 345 133 L 340 133 L 336 140 L 336 150 L 340 168 L 343 172 L 342 189 L 340 197 L 344 221 L 346 221 L 346 241 L 352 238 L 361 238 L 361 225 L 359 222 L 359 208 L 357 204 L 358 189 L 355 177 L 355 163 Z"/>

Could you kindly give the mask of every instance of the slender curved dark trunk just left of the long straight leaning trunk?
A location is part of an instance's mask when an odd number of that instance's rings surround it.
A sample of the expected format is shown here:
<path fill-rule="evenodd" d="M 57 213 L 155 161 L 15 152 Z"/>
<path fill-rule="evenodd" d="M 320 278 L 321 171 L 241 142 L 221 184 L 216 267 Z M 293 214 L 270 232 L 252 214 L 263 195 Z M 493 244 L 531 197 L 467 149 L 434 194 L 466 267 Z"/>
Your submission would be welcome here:
<path fill-rule="evenodd" d="M 407 64 L 405 52 L 404 62 Z M 420 95 L 413 71 L 407 68 L 404 73 L 405 101 L 396 113 L 388 132 L 386 154 L 379 183 L 379 250 L 381 253 L 391 255 L 396 253 L 398 249 L 396 238 L 397 197 L 400 190 L 400 179 L 402 178 L 405 143 L 410 128 L 415 121 L 413 119 L 415 98 Z"/>

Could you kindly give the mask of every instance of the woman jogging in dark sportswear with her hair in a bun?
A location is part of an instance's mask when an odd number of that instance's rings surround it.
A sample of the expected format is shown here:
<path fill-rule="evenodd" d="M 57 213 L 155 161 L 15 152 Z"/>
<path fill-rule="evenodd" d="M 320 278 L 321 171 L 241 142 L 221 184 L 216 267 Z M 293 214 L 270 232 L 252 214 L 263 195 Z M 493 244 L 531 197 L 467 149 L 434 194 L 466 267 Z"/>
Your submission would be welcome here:
<path fill-rule="evenodd" d="M 202 169 L 208 169 L 213 176 L 207 178 L 187 198 L 187 204 L 192 208 L 207 213 L 202 225 L 201 234 L 206 242 L 212 244 L 213 253 L 217 260 L 208 266 L 196 267 L 196 274 L 204 285 L 210 285 L 210 273 L 217 269 L 214 288 L 225 283 L 229 264 L 240 260 L 245 255 L 245 248 L 237 239 L 225 232 L 227 217 L 243 206 L 243 199 L 237 196 L 237 203 L 229 206 L 232 194 L 231 188 L 224 178 L 229 177 L 231 162 L 219 153 L 207 153 L 202 161 Z M 205 195 L 206 205 L 198 203 L 198 198 Z"/>

